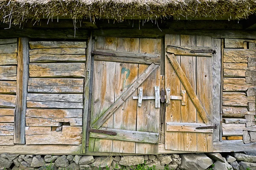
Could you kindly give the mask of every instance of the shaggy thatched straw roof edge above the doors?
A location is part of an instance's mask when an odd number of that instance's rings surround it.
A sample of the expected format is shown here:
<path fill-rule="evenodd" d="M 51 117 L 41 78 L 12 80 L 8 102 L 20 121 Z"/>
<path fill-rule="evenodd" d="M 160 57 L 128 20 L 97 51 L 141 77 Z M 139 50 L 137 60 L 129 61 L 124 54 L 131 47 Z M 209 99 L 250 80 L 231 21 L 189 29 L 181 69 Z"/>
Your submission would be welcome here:
<path fill-rule="evenodd" d="M 165 18 L 171 15 L 246 18 L 256 13 L 256 0 L 0 0 L 0 20 L 20 24 L 27 19 Z"/>

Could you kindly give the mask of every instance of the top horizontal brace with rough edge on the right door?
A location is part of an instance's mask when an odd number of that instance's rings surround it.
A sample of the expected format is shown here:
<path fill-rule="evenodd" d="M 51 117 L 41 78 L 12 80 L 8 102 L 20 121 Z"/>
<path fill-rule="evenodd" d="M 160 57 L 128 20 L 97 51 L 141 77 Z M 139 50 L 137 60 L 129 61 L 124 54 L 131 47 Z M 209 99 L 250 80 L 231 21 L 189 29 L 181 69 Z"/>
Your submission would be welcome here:
<path fill-rule="evenodd" d="M 205 47 L 205 46 L 185 46 L 182 43 L 181 46 L 174 46 L 167 44 L 166 51 L 169 53 L 172 53 L 174 55 L 186 55 L 186 56 L 202 56 L 202 57 L 212 57 L 212 48 L 211 47 Z M 199 51 L 205 51 L 205 52 L 196 52 Z"/>

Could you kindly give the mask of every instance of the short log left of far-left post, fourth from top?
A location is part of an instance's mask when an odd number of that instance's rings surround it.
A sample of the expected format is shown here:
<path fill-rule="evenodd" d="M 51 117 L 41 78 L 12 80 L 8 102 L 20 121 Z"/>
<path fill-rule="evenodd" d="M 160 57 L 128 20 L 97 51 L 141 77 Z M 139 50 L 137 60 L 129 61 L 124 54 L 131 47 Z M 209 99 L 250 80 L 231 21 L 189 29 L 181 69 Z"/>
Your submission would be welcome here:
<path fill-rule="evenodd" d="M 17 66 L 0 66 L 0 80 L 16 80 Z"/>

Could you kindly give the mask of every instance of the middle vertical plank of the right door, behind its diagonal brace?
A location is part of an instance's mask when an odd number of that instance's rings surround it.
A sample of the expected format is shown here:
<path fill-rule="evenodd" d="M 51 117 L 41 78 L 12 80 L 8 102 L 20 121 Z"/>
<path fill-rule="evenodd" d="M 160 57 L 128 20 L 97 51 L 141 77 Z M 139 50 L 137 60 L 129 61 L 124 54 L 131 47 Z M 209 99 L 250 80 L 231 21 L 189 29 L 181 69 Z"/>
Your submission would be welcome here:
<path fill-rule="evenodd" d="M 180 46 L 195 46 L 196 37 L 193 35 L 180 35 Z M 180 66 L 192 88 L 196 92 L 196 57 L 181 56 Z M 185 90 L 181 84 L 181 90 Z M 181 94 L 179 94 L 180 96 Z M 196 123 L 197 110 L 188 96 L 186 105 L 181 105 L 181 122 Z M 197 151 L 197 134 L 196 133 L 183 133 L 184 151 Z"/>

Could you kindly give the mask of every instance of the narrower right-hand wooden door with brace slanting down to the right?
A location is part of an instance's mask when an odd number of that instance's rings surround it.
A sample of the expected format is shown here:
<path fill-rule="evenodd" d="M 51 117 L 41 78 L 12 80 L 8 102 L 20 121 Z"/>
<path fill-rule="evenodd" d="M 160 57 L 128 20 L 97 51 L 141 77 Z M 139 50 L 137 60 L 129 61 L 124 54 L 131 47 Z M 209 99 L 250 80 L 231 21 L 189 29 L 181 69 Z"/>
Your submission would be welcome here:
<path fill-rule="evenodd" d="M 166 150 L 212 152 L 219 140 L 220 69 L 216 73 L 212 64 L 221 61 L 220 44 L 211 37 L 166 35 Z"/>

